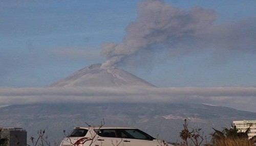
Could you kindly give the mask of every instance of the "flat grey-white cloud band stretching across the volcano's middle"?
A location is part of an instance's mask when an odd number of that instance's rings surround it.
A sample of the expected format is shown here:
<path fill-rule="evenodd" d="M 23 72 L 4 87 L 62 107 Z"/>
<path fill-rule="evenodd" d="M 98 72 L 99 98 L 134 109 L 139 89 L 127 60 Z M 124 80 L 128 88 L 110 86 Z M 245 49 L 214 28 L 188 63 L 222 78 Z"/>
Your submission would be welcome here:
<path fill-rule="evenodd" d="M 37 103 L 205 103 L 256 112 L 256 88 L 0 88 L 0 106 Z"/>

